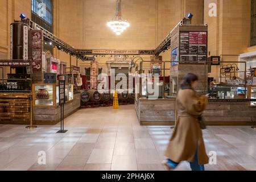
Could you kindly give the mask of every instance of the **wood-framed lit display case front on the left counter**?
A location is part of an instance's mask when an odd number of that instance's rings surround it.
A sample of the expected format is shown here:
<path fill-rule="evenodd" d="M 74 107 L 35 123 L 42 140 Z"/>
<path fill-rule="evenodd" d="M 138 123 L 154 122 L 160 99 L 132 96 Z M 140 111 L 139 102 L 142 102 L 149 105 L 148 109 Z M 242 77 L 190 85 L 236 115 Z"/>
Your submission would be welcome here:
<path fill-rule="evenodd" d="M 33 101 L 35 107 L 56 106 L 55 84 L 33 84 Z"/>

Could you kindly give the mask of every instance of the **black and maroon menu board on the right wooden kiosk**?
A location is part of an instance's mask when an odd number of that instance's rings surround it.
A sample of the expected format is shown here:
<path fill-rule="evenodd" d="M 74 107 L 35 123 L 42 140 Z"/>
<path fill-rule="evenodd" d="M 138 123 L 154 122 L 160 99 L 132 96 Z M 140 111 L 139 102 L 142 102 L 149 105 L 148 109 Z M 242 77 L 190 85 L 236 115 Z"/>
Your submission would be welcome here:
<path fill-rule="evenodd" d="M 180 64 L 201 64 L 207 61 L 207 32 L 180 32 Z"/>

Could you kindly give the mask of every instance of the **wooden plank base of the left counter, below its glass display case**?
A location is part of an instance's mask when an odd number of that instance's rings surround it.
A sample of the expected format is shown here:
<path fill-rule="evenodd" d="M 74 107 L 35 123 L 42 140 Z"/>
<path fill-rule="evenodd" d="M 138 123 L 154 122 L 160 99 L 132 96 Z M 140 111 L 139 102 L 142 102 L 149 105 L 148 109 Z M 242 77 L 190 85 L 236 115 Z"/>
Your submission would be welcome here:
<path fill-rule="evenodd" d="M 75 113 L 80 109 L 81 93 L 74 93 L 72 101 L 64 105 L 64 117 Z M 34 107 L 35 125 L 56 125 L 60 122 L 60 106 L 56 107 Z"/>

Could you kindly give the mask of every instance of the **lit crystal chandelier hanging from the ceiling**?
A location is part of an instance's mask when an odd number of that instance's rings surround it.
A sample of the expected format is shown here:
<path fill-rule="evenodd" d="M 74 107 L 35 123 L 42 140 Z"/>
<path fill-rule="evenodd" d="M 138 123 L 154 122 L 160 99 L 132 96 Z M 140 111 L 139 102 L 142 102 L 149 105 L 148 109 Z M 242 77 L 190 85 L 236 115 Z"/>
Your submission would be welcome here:
<path fill-rule="evenodd" d="M 110 27 L 117 35 L 121 35 L 127 27 L 130 27 L 130 23 L 122 18 L 121 0 L 117 0 L 117 12 L 115 13 L 115 18 L 108 22 L 108 27 Z"/>

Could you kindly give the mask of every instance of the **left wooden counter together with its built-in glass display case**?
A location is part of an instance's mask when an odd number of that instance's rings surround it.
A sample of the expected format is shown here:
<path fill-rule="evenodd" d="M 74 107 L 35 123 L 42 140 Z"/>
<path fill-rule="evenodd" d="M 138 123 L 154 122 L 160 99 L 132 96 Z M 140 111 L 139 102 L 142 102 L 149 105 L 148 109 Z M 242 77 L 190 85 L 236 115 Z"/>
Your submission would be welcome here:
<path fill-rule="evenodd" d="M 73 84 L 65 85 L 64 117 L 80 108 L 80 92 L 73 92 Z M 33 84 L 34 123 L 55 125 L 60 122 L 59 85 Z"/>

